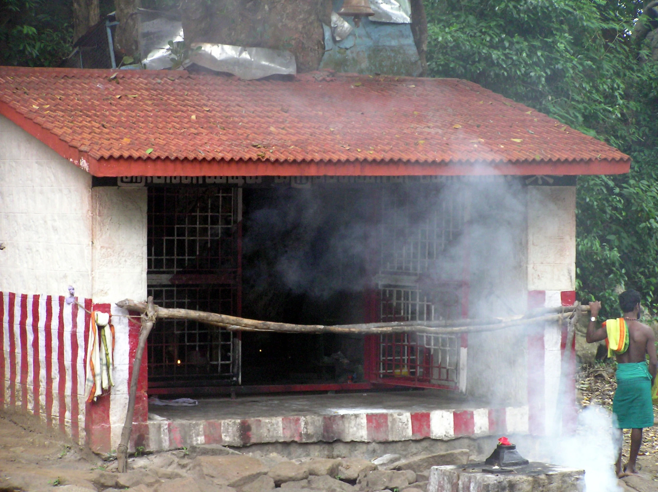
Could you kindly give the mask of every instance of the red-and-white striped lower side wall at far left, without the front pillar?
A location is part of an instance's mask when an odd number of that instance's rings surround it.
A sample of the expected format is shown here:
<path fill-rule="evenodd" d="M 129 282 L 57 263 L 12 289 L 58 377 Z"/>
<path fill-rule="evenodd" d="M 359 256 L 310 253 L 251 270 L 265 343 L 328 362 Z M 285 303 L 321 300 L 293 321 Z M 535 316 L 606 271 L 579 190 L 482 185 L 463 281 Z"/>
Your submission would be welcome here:
<path fill-rule="evenodd" d="M 83 442 L 89 314 L 63 296 L 0 292 L 0 319 L 0 405 Z"/>

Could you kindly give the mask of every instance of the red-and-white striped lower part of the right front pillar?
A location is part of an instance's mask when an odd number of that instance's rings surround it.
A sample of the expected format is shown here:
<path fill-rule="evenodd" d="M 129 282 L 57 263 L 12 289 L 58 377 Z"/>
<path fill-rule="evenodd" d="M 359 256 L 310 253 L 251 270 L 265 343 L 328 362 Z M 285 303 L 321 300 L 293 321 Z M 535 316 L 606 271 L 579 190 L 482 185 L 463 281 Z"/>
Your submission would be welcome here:
<path fill-rule="evenodd" d="M 572 306 L 575 291 L 530 291 L 528 309 Z M 569 355 L 563 364 L 565 354 Z M 576 425 L 576 339 L 567 349 L 567 328 L 547 323 L 528 335 L 530 433 L 554 435 Z"/>

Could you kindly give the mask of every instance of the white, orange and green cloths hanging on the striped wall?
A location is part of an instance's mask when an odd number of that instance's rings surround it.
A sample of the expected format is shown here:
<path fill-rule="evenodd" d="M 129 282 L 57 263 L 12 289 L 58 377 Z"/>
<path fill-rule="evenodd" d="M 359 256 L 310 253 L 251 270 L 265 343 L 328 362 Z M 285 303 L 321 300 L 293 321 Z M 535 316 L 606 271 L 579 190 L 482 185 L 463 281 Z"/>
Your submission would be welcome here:
<path fill-rule="evenodd" d="M 110 315 L 105 312 L 91 312 L 89 321 L 89 342 L 85 367 L 85 396 L 87 401 L 97 397 L 114 386 L 114 326 Z"/>

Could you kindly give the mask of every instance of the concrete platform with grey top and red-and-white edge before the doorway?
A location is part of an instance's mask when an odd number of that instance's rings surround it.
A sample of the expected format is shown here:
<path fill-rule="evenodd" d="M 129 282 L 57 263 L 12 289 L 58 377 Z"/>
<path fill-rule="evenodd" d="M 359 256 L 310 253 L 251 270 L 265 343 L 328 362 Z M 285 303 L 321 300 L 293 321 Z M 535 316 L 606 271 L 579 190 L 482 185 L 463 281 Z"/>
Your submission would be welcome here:
<path fill-rule="evenodd" d="M 149 405 L 153 451 L 199 444 L 388 442 L 528 433 L 528 407 L 490 408 L 439 391 L 199 399 Z"/>

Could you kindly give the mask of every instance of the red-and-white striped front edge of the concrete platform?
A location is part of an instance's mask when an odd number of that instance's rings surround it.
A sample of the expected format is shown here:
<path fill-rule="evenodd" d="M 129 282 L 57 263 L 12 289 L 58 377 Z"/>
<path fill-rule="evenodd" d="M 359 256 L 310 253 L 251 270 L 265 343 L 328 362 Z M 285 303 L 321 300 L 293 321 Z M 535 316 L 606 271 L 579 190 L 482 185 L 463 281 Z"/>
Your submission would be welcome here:
<path fill-rule="evenodd" d="M 388 442 L 528 433 L 528 407 L 345 413 L 225 420 L 150 420 L 149 446 L 164 451 L 199 444 L 333 441 Z"/>

